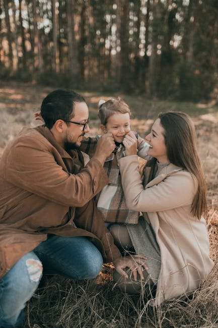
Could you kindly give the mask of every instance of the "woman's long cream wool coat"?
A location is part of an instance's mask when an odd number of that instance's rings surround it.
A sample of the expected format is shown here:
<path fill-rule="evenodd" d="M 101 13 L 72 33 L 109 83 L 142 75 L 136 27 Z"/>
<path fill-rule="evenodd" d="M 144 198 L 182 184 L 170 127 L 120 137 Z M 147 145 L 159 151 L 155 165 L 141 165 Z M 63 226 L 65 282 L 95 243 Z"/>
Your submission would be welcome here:
<path fill-rule="evenodd" d="M 160 247 L 155 304 L 195 290 L 213 267 L 205 220 L 191 213 L 195 178 L 170 164 L 144 189 L 136 155 L 121 158 L 119 166 L 127 206 L 147 212 Z"/>

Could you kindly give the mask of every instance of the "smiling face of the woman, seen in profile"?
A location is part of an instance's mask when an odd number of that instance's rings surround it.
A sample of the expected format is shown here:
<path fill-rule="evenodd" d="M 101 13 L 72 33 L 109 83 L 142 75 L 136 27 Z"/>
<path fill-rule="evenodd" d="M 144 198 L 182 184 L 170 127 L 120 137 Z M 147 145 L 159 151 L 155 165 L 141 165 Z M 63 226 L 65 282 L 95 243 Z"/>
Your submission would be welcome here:
<path fill-rule="evenodd" d="M 153 124 L 152 131 L 146 136 L 146 140 L 150 145 L 148 155 L 157 158 L 159 163 L 169 163 L 163 133 L 161 120 L 157 119 Z"/>

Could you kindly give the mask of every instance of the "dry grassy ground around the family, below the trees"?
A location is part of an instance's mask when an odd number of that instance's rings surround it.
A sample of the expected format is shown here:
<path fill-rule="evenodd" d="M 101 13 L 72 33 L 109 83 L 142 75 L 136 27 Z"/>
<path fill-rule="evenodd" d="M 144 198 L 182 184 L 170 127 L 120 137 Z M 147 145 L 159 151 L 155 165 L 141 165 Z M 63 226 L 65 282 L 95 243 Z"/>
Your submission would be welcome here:
<path fill-rule="evenodd" d="M 36 126 L 33 113 L 40 108 L 42 98 L 52 90 L 31 84 L 0 82 L 0 156 L 9 140 L 23 126 Z M 99 132 L 97 103 L 108 94 L 79 91 L 90 108 L 90 134 Z M 188 113 L 196 127 L 198 149 L 203 162 L 209 210 L 207 226 L 211 257 L 215 266 L 208 279 L 189 296 L 168 301 L 159 308 L 151 306 L 143 297 L 123 294 L 112 281 L 113 266 L 104 265 L 95 281 L 75 282 L 60 277 L 44 278 L 41 287 L 28 302 L 24 328 L 81 327 L 218 327 L 218 106 L 209 103 L 185 103 L 148 100 L 143 96 L 121 96 L 134 113 L 132 130 L 144 137 L 162 111 Z"/>

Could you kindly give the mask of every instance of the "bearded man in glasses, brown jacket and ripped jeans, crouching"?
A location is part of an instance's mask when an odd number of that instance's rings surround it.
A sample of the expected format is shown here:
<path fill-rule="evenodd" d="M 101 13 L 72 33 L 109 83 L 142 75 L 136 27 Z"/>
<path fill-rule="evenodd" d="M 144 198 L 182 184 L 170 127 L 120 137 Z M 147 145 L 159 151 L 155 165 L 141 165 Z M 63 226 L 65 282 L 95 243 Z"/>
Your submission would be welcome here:
<path fill-rule="evenodd" d="M 43 271 L 70 279 L 95 278 L 120 252 L 93 197 L 108 183 L 103 169 L 114 149 L 100 138 L 84 168 L 77 150 L 89 132 L 85 99 L 68 90 L 44 98 L 45 125 L 24 128 L 0 163 L 0 326 L 19 326 Z M 72 238 L 73 237 L 73 238 Z"/>

